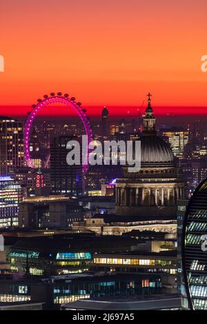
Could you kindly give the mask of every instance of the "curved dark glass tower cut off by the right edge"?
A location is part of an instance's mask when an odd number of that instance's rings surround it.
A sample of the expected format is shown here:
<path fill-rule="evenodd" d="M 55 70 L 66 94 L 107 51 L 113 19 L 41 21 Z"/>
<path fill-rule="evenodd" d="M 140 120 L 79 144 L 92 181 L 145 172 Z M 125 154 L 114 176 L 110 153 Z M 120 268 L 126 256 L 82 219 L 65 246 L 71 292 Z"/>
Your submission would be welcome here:
<path fill-rule="evenodd" d="M 181 250 L 188 308 L 207 310 L 207 179 L 188 203 Z"/>

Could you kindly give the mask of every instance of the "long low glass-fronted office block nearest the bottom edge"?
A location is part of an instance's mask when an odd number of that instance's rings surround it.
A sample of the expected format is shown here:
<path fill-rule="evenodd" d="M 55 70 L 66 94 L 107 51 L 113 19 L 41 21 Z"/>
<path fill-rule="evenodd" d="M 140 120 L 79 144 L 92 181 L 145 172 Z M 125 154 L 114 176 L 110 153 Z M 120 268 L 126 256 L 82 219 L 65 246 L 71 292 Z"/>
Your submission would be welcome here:
<path fill-rule="evenodd" d="M 59 309 L 61 304 L 72 303 L 83 298 L 135 298 L 160 294 L 162 280 L 159 274 L 86 275 L 77 274 L 67 279 L 51 280 L 2 280 L 0 281 L 0 302 L 42 301 L 44 308 Z"/>

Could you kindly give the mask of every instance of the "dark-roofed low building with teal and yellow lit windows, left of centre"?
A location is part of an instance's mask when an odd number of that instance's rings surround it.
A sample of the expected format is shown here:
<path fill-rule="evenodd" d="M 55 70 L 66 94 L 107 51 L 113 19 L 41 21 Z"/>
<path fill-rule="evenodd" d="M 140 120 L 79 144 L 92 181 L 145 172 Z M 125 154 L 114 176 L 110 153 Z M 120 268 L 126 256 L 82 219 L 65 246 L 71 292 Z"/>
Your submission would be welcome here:
<path fill-rule="evenodd" d="M 135 240 L 126 237 L 72 236 L 37 237 L 18 241 L 8 254 L 12 272 L 52 276 L 86 272 L 92 255 L 130 250 Z"/>

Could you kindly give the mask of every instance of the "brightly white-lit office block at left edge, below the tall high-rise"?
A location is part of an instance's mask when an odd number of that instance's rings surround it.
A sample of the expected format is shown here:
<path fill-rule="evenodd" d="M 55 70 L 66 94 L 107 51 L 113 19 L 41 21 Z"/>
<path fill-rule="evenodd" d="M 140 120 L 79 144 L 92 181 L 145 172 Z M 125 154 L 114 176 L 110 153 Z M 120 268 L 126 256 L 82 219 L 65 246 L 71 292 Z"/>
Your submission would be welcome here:
<path fill-rule="evenodd" d="M 21 185 L 10 176 L 0 176 L 0 227 L 18 225 Z"/>

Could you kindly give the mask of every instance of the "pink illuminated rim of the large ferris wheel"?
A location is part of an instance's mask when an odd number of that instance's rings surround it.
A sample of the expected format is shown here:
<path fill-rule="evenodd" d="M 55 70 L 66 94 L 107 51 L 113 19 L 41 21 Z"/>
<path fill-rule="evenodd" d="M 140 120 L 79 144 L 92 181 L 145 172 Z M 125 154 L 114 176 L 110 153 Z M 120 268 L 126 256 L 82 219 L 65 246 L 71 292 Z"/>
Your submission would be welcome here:
<path fill-rule="evenodd" d="M 46 107 L 48 105 L 51 105 L 53 103 L 61 103 L 63 105 L 67 105 L 68 108 L 72 108 L 77 112 L 79 115 L 83 126 L 86 130 L 86 135 L 88 136 L 88 143 L 92 141 L 92 130 L 90 127 L 90 121 L 88 120 L 88 117 L 86 115 L 86 109 L 81 108 L 81 103 L 75 101 L 75 97 L 69 97 L 68 94 L 61 94 L 61 92 L 57 92 L 55 94 L 54 92 L 50 93 L 50 96 L 45 94 L 43 96 L 43 99 L 38 99 L 37 100 L 37 105 L 32 105 L 32 111 L 30 112 L 28 119 L 26 120 L 25 127 L 24 127 L 24 158 L 26 161 L 26 165 L 30 168 L 34 168 L 34 165 L 32 163 L 32 159 L 30 156 L 30 148 L 29 148 L 29 142 L 30 142 L 30 131 L 32 128 L 32 123 L 34 119 L 37 117 L 38 112 L 43 107 Z M 88 143 L 87 143 L 87 149 L 88 149 Z M 87 156 L 86 156 L 87 157 Z M 83 163 L 83 172 L 85 173 L 87 171 L 88 165 L 86 161 Z"/>

